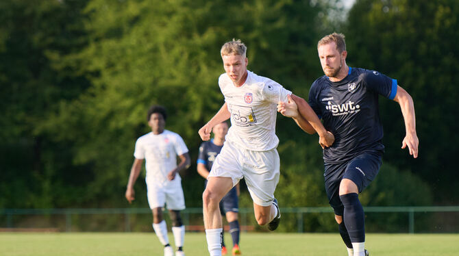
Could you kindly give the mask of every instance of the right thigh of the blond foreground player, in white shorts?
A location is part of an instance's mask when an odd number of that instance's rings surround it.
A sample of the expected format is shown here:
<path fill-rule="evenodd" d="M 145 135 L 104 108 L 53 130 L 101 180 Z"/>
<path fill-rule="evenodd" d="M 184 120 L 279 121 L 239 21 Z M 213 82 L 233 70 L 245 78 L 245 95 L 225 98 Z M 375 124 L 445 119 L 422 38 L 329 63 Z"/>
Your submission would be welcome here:
<path fill-rule="evenodd" d="M 277 150 L 247 151 L 243 173 L 253 203 L 263 207 L 271 205 L 280 177 Z"/>

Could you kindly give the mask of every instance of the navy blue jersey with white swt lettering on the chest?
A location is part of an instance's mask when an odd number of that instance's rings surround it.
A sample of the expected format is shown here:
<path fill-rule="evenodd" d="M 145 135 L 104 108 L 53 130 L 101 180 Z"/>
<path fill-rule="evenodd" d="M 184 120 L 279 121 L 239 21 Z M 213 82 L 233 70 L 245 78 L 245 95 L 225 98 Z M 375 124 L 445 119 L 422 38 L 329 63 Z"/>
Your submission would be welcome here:
<path fill-rule="evenodd" d="M 311 86 L 309 105 L 335 136 L 325 148 L 326 163 L 347 161 L 364 151 L 384 151 L 378 95 L 394 99 L 397 80 L 377 71 L 350 68 L 341 81 L 319 77 Z"/>

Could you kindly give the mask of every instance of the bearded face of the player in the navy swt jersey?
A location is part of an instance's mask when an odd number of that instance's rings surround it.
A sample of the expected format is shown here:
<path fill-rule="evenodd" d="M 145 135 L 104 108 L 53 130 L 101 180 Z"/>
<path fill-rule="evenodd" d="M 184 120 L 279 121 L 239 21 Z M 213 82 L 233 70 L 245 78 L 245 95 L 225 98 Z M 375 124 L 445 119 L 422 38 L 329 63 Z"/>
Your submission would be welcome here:
<path fill-rule="evenodd" d="M 322 44 L 317 51 L 319 51 L 323 73 L 327 77 L 336 77 L 344 65 L 346 51 L 340 53 L 336 49 L 336 42 Z"/>

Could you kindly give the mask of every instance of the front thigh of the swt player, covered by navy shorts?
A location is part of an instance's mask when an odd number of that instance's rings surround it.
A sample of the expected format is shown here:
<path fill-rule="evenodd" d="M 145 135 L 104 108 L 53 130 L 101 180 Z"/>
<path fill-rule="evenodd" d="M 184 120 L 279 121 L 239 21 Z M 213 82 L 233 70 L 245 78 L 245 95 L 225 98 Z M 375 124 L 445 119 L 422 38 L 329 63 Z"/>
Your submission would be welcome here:
<path fill-rule="evenodd" d="M 375 179 L 382 164 L 382 154 L 363 153 L 354 157 L 347 164 L 343 179 L 356 183 L 358 192 L 362 192 Z"/>

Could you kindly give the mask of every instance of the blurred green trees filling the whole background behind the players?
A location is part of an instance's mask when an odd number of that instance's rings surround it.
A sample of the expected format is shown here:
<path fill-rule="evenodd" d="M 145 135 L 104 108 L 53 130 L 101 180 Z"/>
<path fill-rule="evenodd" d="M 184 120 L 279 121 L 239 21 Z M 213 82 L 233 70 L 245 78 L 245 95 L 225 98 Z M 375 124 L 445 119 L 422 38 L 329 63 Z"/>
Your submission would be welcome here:
<path fill-rule="evenodd" d="M 397 103 L 381 99 L 386 154 L 364 205 L 457 205 L 459 3 L 454 0 L 57 1 L 0 3 L 0 208 L 128 207 L 136 138 L 149 105 L 185 140 L 188 207 L 201 207 L 197 130 L 219 110 L 219 49 L 247 44 L 249 70 L 307 98 L 323 75 L 317 41 L 347 36 L 350 66 L 375 69 L 412 95 L 418 159 L 401 150 Z M 317 136 L 277 118 L 282 207 L 327 206 Z M 136 183 L 133 207 L 147 207 Z M 243 189 L 241 206 L 251 207 Z M 332 220 L 312 216 L 306 230 Z M 315 223 L 315 225 L 314 225 Z M 285 229 L 288 229 L 286 225 Z"/>

